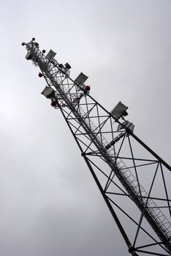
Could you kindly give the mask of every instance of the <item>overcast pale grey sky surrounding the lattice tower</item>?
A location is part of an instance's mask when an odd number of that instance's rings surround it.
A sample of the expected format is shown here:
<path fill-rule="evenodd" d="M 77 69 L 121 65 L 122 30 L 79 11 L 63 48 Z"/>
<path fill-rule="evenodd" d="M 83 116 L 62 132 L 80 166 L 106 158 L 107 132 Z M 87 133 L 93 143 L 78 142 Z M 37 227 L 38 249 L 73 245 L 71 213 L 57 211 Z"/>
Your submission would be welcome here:
<path fill-rule="evenodd" d="M 88 75 L 107 110 L 169 164 L 171 1 L 1 1 L 0 255 L 128 255 L 68 127 L 20 45 Z M 115 252 L 115 254 L 114 254 Z"/>

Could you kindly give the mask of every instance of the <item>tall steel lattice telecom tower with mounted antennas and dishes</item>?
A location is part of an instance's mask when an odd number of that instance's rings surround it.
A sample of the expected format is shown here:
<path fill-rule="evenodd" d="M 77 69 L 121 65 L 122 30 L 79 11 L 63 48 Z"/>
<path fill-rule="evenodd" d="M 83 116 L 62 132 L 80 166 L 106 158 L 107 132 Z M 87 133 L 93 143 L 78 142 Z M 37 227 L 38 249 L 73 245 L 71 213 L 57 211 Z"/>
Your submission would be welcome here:
<path fill-rule="evenodd" d="M 170 165 L 134 135 L 122 102 L 105 110 L 91 97 L 83 72 L 72 80 L 70 65 L 58 63 L 53 50 L 45 54 L 34 38 L 22 45 L 45 78 L 42 94 L 64 116 L 129 253 L 171 255 Z"/>

